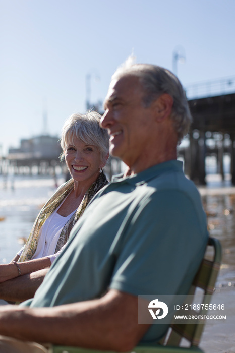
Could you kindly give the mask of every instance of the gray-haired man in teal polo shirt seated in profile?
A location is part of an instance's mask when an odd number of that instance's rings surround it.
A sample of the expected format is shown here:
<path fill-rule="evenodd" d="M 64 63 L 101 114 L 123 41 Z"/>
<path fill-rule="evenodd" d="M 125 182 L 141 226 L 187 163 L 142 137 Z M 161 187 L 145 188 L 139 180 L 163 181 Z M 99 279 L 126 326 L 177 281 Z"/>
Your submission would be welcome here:
<path fill-rule="evenodd" d="M 131 350 L 166 329 L 138 324 L 138 295 L 183 295 L 199 267 L 208 232 L 200 195 L 177 161 L 191 121 L 182 85 L 161 67 L 126 65 L 104 107 L 110 152 L 128 175 L 91 201 L 29 307 L 2 309 L 2 335 Z M 29 343 L 18 340 L 11 344 L 26 352 Z"/>

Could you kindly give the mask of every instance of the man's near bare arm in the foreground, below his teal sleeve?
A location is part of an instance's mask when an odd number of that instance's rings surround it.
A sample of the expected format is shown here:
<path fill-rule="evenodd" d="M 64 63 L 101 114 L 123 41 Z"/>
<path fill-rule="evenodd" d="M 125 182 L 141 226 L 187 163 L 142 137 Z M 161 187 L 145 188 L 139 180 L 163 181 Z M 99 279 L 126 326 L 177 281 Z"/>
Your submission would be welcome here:
<path fill-rule="evenodd" d="M 53 308 L 1 309 L 0 334 L 41 343 L 127 351 L 149 327 L 138 324 L 138 298 L 114 290 Z"/>

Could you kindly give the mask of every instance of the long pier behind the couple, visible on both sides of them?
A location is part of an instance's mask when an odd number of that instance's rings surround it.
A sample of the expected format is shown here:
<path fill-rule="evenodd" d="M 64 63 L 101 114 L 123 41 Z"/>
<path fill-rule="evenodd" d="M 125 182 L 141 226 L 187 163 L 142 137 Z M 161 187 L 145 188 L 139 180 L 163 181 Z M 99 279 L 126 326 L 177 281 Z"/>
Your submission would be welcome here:
<path fill-rule="evenodd" d="M 235 86 L 235 77 L 222 82 L 229 88 Z M 194 87 L 193 87 L 194 88 Z M 194 88 L 195 89 L 195 88 Z M 233 92 L 235 92 L 235 87 Z M 205 160 L 216 156 L 217 170 L 224 178 L 223 160 L 229 155 L 231 182 L 235 185 L 235 93 L 223 92 L 205 98 L 189 99 L 193 123 L 189 133 L 189 146 L 180 147 L 179 155 L 184 159 L 185 172 L 196 184 L 206 184 Z M 58 137 L 41 135 L 21 140 L 20 149 L 11 150 L 8 156 L 0 158 L 0 174 L 10 171 L 15 174 L 54 174 L 56 168 L 64 171 Z M 121 161 L 110 160 L 106 171 L 111 178 L 121 171 Z"/>

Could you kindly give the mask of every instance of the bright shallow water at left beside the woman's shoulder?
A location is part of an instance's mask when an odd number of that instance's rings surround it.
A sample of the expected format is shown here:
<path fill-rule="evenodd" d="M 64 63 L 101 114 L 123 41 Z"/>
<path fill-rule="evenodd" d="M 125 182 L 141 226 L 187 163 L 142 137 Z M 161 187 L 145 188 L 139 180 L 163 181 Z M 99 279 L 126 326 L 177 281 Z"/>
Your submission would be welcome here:
<path fill-rule="evenodd" d="M 64 178 L 58 178 L 60 185 Z M 55 192 L 52 177 L 0 175 L 0 264 L 8 263 L 28 238 L 37 214 Z"/>

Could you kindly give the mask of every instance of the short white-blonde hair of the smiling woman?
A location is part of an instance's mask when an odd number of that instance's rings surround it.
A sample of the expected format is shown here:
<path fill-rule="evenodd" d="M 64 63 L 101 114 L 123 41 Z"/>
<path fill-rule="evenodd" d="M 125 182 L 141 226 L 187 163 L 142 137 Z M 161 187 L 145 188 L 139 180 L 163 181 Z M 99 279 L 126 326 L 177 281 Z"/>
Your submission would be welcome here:
<path fill-rule="evenodd" d="M 109 136 L 106 129 L 100 128 L 100 119 L 101 115 L 92 110 L 85 114 L 75 113 L 71 115 L 62 128 L 61 147 L 63 151 L 69 145 L 73 145 L 75 139 L 79 139 L 87 145 L 97 147 L 102 160 L 104 160 L 108 155 Z"/>

